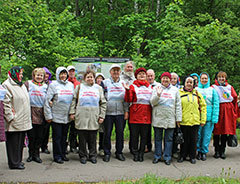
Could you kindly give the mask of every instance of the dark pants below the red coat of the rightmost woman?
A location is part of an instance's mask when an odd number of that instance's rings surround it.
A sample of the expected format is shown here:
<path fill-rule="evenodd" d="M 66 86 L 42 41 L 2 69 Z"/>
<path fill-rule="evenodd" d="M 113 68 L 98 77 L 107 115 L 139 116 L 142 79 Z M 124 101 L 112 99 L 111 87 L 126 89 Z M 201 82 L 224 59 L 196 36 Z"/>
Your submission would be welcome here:
<path fill-rule="evenodd" d="M 214 135 L 213 136 L 213 146 L 215 147 L 215 152 L 224 153 L 227 144 L 227 135 Z"/>

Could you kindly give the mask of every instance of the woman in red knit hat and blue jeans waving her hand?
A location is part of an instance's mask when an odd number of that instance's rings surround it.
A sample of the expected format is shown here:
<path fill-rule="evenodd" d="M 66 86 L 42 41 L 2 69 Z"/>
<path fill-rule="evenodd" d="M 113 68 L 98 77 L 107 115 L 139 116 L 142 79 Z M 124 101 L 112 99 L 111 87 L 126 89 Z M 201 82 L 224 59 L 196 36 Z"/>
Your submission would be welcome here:
<path fill-rule="evenodd" d="M 171 74 L 164 72 L 161 75 L 161 85 L 153 89 L 151 97 L 152 126 L 154 128 L 155 154 L 153 164 L 162 157 L 162 136 L 164 131 L 163 159 L 166 165 L 171 164 L 173 132 L 176 122 L 182 121 L 182 106 L 178 88 L 170 84 Z"/>

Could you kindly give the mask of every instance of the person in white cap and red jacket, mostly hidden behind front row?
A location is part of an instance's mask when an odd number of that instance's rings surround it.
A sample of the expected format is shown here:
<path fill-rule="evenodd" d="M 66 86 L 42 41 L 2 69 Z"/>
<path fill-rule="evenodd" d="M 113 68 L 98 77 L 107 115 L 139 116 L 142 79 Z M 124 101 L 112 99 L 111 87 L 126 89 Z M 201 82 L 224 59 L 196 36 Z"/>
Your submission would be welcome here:
<path fill-rule="evenodd" d="M 72 82 L 74 85 L 74 89 L 76 88 L 77 85 L 80 84 L 79 81 L 77 81 L 75 77 L 75 67 L 70 65 L 67 67 L 68 70 L 68 81 Z M 78 141 L 77 141 L 77 130 L 75 129 L 75 122 L 71 121 L 70 122 L 70 132 L 69 132 L 69 145 L 70 145 L 70 152 L 77 153 L 77 147 L 78 147 Z"/>

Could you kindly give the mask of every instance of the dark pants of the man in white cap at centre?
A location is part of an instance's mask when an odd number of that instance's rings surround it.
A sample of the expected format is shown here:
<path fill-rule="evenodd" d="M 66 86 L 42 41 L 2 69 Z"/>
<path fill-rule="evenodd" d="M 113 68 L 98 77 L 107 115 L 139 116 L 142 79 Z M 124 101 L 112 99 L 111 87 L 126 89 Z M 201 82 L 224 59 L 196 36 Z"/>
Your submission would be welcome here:
<path fill-rule="evenodd" d="M 116 132 L 116 154 L 122 154 L 124 146 L 124 128 L 126 121 L 123 115 L 107 115 L 104 121 L 104 154 L 111 154 L 111 135 L 113 124 Z"/>

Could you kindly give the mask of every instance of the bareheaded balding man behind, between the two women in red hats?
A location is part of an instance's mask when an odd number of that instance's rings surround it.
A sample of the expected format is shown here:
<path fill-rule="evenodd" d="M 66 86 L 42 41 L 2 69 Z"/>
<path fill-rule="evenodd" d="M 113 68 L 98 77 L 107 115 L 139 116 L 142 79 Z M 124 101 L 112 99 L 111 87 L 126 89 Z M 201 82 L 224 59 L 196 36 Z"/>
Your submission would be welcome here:
<path fill-rule="evenodd" d="M 147 81 L 152 86 L 156 86 L 159 84 L 157 81 L 155 81 L 155 72 L 153 69 L 147 70 Z M 149 128 L 148 132 L 148 138 L 147 138 L 147 149 L 145 150 L 145 153 L 152 151 L 152 128 Z"/>

